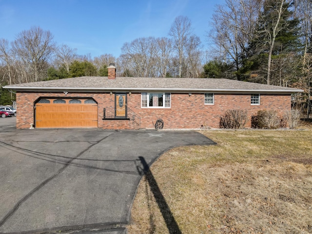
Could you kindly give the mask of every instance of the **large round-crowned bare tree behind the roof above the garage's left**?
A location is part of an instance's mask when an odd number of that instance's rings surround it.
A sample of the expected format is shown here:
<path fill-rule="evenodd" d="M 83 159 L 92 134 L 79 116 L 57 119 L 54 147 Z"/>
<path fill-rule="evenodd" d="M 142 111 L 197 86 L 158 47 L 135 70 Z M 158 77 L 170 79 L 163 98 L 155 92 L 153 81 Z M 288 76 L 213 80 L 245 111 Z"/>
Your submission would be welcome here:
<path fill-rule="evenodd" d="M 18 34 L 12 48 L 16 57 L 30 68 L 34 76 L 31 81 L 39 81 L 45 74 L 47 62 L 55 51 L 55 42 L 50 31 L 32 27 Z"/>

